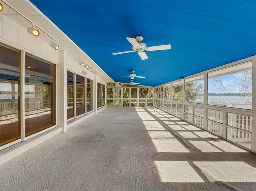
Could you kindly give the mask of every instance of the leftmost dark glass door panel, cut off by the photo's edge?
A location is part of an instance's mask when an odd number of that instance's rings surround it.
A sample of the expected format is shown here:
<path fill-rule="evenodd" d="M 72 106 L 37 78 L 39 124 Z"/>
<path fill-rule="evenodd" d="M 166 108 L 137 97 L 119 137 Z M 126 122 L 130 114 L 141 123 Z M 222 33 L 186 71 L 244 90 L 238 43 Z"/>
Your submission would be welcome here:
<path fill-rule="evenodd" d="M 0 146 L 20 135 L 20 51 L 0 44 Z"/>

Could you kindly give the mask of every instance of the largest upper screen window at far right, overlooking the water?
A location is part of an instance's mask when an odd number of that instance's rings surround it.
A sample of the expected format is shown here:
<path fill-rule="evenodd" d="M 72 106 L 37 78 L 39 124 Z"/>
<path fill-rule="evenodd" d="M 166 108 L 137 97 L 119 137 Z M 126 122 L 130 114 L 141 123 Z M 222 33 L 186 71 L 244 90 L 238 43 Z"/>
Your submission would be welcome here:
<path fill-rule="evenodd" d="M 208 73 L 208 104 L 252 109 L 252 62 Z"/>

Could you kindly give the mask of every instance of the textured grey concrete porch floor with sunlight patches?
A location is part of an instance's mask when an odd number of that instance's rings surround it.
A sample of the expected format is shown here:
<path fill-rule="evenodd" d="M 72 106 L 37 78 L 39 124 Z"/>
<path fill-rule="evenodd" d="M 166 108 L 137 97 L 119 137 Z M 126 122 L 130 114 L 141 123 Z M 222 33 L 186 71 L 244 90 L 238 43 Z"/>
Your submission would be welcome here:
<path fill-rule="evenodd" d="M 1 191 L 255 188 L 255 154 L 150 107 L 106 108 L 0 166 Z"/>

